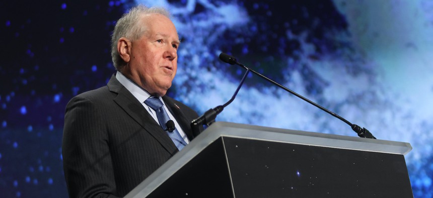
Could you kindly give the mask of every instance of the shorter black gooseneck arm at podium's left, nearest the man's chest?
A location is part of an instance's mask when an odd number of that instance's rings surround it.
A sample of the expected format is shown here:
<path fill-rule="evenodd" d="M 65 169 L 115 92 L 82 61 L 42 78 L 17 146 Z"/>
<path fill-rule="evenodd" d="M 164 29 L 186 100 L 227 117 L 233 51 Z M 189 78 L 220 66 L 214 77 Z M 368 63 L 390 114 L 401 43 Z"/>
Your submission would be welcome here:
<path fill-rule="evenodd" d="M 220 105 L 218 107 L 215 107 L 213 109 L 209 109 L 202 116 L 199 118 L 193 120 L 191 122 L 191 129 L 192 134 L 194 134 L 194 137 L 197 137 L 200 134 L 200 126 L 206 125 L 210 126 L 212 123 L 215 122 L 216 115 L 220 114 L 225 107 L 227 107 L 230 103 L 232 103 L 235 100 L 236 95 L 239 92 L 239 89 L 241 88 L 242 84 L 244 83 L 245 79 L 247 78 L 248 73 L 250 72 L 250 69 L 246 68 L 247 71 L 244 74 L 244 77 L 242 77 L 241 82 L 238 85 L 238 88 L 236 89 L 235 93 L 233 94 L 232 98 L 225 103 L 224 105 Z"/>

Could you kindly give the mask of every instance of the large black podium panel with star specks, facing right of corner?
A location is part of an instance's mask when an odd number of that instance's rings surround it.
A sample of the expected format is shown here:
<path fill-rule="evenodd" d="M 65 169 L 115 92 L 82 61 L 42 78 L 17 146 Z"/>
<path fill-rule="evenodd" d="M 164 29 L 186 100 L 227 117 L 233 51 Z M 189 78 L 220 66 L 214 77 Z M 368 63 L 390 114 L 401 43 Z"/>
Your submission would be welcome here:
<path fill-rule="evenodd" d="M 223 139 L 236 197 L 413 197 L 403 155 Z"/>

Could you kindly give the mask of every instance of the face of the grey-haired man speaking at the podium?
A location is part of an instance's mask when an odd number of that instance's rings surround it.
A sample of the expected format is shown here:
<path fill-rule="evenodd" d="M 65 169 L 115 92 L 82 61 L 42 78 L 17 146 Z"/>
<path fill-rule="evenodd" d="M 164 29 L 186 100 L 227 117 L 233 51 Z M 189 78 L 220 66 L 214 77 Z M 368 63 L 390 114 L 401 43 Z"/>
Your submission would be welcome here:
<path fill-rule="evenodd" d="M 163 96 L 176 75 L 179 36 L 163 15 L 146 15 L 142 23 L 148 29 L 131 42 L 130 61 L 122 73 L 152 95 Z"/>

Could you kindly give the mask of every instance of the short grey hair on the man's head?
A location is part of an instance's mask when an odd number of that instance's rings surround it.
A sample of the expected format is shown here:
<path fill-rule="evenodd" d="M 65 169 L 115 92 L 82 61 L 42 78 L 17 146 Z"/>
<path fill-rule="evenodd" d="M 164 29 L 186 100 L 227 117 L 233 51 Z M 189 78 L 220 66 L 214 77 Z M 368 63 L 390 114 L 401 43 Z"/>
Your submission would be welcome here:
<path fill-rule="evenodd" d="M 143 15 L 147 14 L 161 14 L 171 19 L 171 15 L 166 9 L 147 8 L 143 5 L 132 7 L 128 13 L 123 14 L 117 21 L 113 35 L 111 36 L 111 59 L 116 70 L 120 71 L 126 65 L 126 62 L 123 61 L 117 51 L 117 41 L 121 37 L 125 37 L 131 41 L 141 38 L 146 32 L 147 27 L 145 24 L 140 23 L 140 20 Z"/>

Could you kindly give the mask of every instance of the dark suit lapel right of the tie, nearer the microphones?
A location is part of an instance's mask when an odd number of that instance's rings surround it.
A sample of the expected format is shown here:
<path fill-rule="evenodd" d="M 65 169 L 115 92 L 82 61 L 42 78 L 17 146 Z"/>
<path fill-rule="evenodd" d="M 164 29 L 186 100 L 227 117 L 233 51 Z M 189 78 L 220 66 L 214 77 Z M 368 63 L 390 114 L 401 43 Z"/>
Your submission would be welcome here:
<path fill-rule="evenodd" d="M 183 132 L 186 134 L 189 140 L 192 140 L 194 136 L 192 135 L 192 130 L 189 121 L 186 116 L 182 113 L 182 110 L 176 105 L 175 101 L 172 100 L 169 96 L 164 95 L 163 97 L 164 103 L 167 105 L 167 109 L 170 113 L 176 118 L 177 123 L 179 123 Z"/>

